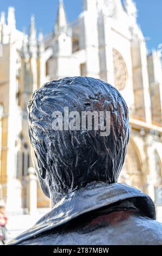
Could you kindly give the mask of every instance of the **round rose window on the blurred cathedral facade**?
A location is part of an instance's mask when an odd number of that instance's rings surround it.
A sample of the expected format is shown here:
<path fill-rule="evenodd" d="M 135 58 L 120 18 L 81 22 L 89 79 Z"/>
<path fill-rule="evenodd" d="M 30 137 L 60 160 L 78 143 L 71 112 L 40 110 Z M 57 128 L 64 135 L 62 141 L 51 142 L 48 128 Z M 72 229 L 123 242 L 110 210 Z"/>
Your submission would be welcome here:
<path fill-rule="evenodd" d="M 113 50 L 113 63 L 115 87 L 118 90 L 123 90 L 127 83 L 127 66 L 121 54 L 115 49 Z"/>

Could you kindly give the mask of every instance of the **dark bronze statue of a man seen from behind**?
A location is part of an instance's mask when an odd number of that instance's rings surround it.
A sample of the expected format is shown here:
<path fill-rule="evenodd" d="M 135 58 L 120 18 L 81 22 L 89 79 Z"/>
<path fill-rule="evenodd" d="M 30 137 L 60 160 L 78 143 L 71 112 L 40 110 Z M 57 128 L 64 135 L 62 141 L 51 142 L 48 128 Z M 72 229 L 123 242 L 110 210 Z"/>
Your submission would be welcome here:
<path fill-rule="evenodd" d="M 110 135 L 54 130 L 53 113 L 65 106 L 80 114 L 110 112 Z M 126 102 L 113 86 L 88 77 L 49 82 L 33 94 L 28 113 L 33 164 L 52 210 L 9 245 L 161 245 L 152 199 L 117 183 L 129 125 Z"/>

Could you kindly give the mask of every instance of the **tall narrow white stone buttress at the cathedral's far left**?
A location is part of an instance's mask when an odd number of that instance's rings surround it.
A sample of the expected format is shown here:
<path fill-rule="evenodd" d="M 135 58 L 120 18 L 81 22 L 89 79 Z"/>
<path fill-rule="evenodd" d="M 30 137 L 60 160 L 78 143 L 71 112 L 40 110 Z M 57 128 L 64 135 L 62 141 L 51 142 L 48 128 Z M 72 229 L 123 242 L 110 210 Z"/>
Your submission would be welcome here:
<path fill-rule="evenodd" d="M 14 40 L 14 38 L 12 38 Z M 9 211 L 18 211 L 21 209 L 21 182 L 15 179 L 16 162 L 15 162 L 15 141 L 17 137 L 17 108 L 16 108 L 16 44 L 10 41 L 9 44 L 9 109 L 8 109 L 8 137 L 7 148 L 7 171 L 6 178 L 3 183 L 3 191 L 5 191 L 6 208 Z M 16 124 L 16 125 L 15 125 Z"/>

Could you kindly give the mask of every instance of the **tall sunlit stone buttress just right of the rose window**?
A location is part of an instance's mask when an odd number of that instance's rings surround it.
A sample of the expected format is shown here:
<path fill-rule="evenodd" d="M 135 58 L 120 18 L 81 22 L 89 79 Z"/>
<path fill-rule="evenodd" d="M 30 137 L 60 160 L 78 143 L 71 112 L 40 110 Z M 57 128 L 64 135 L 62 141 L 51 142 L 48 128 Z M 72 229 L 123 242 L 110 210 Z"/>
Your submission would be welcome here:
<path fill-rule="evenodd" d="M 136 115 L 151 123 L 151 97 L 149 93 L 147 48 L 144 37 L 132 39 L 132 64 Z"/>

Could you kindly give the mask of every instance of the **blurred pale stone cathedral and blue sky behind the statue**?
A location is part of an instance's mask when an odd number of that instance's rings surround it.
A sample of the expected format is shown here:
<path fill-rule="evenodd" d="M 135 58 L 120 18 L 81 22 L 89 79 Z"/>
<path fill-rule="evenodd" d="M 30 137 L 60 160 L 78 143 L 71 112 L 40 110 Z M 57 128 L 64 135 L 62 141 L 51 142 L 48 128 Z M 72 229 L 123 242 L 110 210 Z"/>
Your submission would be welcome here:
<path fill-rule="evenodd" d="M 1 2 L 0 206 L 8 239 L 49 211 L 32 167 L 27 104 L 43 83 L 65 76 L 99 78 L 123 95 L 130 141 L 119 181 L 147 193 L 162 221 L 161 10 L 159 0 Z"/>

